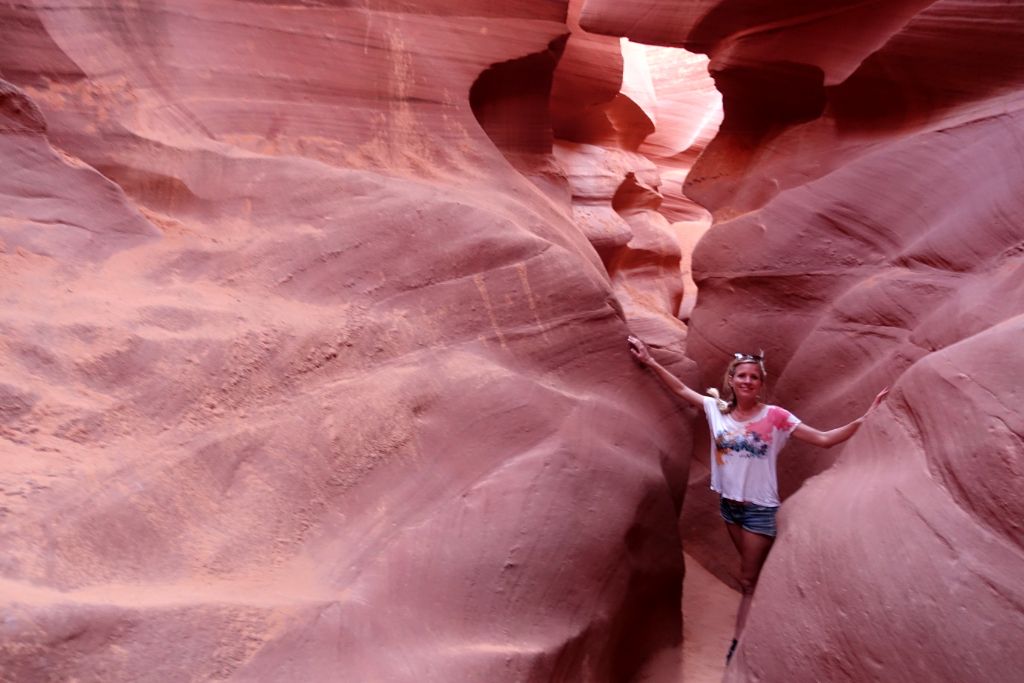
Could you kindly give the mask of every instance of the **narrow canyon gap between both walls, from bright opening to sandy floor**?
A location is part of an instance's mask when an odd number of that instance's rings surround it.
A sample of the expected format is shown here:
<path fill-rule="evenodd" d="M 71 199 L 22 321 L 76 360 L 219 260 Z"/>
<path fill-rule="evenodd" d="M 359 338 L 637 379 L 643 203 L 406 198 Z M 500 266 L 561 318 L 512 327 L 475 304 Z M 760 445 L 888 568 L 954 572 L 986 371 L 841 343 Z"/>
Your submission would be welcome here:
<path fill-rule="evenodd" d="M 681 350 L 696 301 L 690 258 L 711 225 L 682 183 L 718 130 L 721 96 L 703 55 L 589 34 L 577 18 L 570 14 L 572 32 L 554 50 L 484 72 L 471 90 L 474 115 L 542 191 L 571 198 L 573 220 L 600 256 L 630 329 Z M 689 444 L 680 451 L 689 454 Z M 690 683 L 721 680 L 739 601 L 738 555 L 705 504 L 706 457 L 694 449 L 686 496 L 695 502 L 680 517 L 680 533 L 700 554 L 684 546 L 679 680 Z"/>

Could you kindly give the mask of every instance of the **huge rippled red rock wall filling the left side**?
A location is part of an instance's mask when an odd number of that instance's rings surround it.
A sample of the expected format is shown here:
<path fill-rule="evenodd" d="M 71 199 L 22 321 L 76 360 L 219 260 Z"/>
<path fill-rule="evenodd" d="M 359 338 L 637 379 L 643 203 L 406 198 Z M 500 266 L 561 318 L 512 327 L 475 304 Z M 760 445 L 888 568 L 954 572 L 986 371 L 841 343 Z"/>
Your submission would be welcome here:
<path fill-rule="evenodd" d="M 566 12 L 0 5 L 0 678 L 673 651 L 689 432 L 552 165 Z"/>

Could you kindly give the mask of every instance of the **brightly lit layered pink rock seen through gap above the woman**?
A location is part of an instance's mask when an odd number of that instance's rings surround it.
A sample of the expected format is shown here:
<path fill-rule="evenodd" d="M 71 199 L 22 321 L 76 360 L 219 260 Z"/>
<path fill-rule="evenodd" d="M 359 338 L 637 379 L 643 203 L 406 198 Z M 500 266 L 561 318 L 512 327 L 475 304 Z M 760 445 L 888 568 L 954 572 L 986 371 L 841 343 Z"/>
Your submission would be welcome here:
<path fill-rule="evenodd" d="M 634 330 L 678 346 L 685 330 L 665 312 L 689 314 L 690 253 L 711 222 L 679 184 L 718 129 L 721 96 L 705 56 L 588 33 L 585 4 L 570 4 L 552 87 L 555 158 Z"/>

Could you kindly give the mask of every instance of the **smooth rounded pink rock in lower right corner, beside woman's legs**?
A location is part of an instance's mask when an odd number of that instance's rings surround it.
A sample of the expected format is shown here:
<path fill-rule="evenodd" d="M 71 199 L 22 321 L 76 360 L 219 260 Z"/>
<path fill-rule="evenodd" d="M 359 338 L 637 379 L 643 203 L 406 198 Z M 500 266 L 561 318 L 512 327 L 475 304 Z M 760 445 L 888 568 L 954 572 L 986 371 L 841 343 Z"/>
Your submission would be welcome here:
<path fill-rule="evenodd" d="M 726 680 L 1018 675 L 1022 333 L 1017 315 L 916 362 L 839 465 L 790 499 Z"/>

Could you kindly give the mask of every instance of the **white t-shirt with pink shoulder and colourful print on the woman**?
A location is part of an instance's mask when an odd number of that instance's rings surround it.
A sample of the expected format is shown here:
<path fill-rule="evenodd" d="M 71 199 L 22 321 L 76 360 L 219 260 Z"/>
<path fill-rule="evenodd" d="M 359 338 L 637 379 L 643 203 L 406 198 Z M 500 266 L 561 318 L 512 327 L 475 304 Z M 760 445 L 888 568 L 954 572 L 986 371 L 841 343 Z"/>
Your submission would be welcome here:
<path fill-rule="evenodd" d="M 778 405 L 765 405 L 750 420 L 722 415 L 705 396 L 711 427 L 711 487 L 733 501 L 777 507 L 775 461 L 800 420 Z"/>

